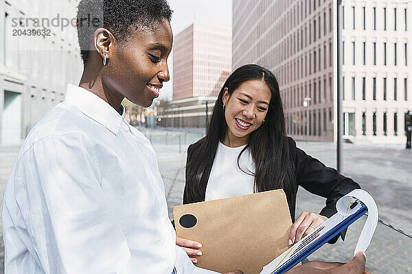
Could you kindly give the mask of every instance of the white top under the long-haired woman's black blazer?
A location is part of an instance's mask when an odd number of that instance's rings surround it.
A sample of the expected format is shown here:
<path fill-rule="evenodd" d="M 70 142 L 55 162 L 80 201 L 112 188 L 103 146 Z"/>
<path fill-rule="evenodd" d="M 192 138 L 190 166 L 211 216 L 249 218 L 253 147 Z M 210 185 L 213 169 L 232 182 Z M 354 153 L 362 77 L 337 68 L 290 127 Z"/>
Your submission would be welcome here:
<path fill-rule="evenodd" d="M 218 149 L 211 167 L 207 182 L 205 201 L 247 195 L 253 193 L 255 164 L 249 149 L 238 155 L 246 145 L 241 147 L 227 147 L 219 142 Z M 248 174 L 249 173 L 249 174 Z"/>

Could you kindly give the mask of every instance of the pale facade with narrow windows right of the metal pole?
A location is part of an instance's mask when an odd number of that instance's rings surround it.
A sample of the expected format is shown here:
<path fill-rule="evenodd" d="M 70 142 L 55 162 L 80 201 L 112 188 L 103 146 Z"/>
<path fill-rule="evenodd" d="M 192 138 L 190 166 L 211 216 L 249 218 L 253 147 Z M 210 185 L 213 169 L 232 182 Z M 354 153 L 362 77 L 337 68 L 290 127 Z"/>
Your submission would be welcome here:
<path fill-rule="evenodd" d="M 397 3 L 398 2 L 398 3 Z M 411 3 L 342 1 L 345 136 L 405 143 L 411 99 Z"/>

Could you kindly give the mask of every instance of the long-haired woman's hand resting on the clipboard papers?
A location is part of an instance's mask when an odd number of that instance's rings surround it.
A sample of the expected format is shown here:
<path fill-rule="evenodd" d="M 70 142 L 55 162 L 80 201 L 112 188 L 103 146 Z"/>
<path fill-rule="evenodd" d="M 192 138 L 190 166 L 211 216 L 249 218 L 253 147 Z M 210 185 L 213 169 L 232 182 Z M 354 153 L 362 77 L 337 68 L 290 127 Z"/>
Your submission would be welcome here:
<path fill-rule="evenodd" d="M 289 245 L 299 242 L 301 238 L 304 238 L 304 236 L 314 231 L 314 229 L 326 220 L 328 220 L 328 218 L 325 216 L 313 212 L 302 212 L 292 225 L 292 229 L 290 229 Z"/>

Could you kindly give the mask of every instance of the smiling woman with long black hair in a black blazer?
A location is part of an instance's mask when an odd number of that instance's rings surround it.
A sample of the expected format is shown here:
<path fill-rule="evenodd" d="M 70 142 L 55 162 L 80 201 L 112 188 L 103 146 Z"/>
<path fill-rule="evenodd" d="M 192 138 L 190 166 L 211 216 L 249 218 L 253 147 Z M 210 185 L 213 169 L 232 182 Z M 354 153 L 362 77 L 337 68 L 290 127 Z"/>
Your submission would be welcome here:
<path fill-rule="evenodd" d="M 295 221 L 299 186 L 325 197 L 326 206 L 319 214 L 303 212 Z M 281 188 L 295 221 L 289 236 L 293 245 L 336 213 L 339 198 L 360 186 L 297 148 L 286 136 L 275 75 L 255 64 L 241 66 L 220 90 L 207 135 L 187 150 L 183 203 Z M 188 247 L 185 251 L 196 262 L 198 243 L 177 242 Z"/>

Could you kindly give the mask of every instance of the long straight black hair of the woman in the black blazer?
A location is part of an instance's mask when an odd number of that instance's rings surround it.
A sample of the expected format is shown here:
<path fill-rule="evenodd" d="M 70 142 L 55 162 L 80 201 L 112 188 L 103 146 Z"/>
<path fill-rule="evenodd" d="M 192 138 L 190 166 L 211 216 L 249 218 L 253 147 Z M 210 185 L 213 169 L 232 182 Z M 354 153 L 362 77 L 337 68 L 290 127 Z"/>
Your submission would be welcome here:
<path fill-rule="evenodd" d="M 247 64 L 233 71 L 222 86 L 214 105 L 213 114 L 206 136 L 196 143 L 196 159 L 186 164 L 185 197 L 190 203 L 198 197 L 201 178 L 205 171 L 210 171 L 218 148 L 218 142 L 225 138 L 227 123 L 222 97 L 225 88 L 229 96 L 242 83 L 250 80 L 262 80 L 271 90 L 271 101 L 264 123 L 251 132 L 249 144 L 238 156 L 249 149 L 255 163 L 255 192 L 283 188 L 288 201 L 296 199 L 296 178 L 291 159 L 288 138 L 286 137 L 285 119 L 279 84 L 271 71 L 256 64 Z"/>

